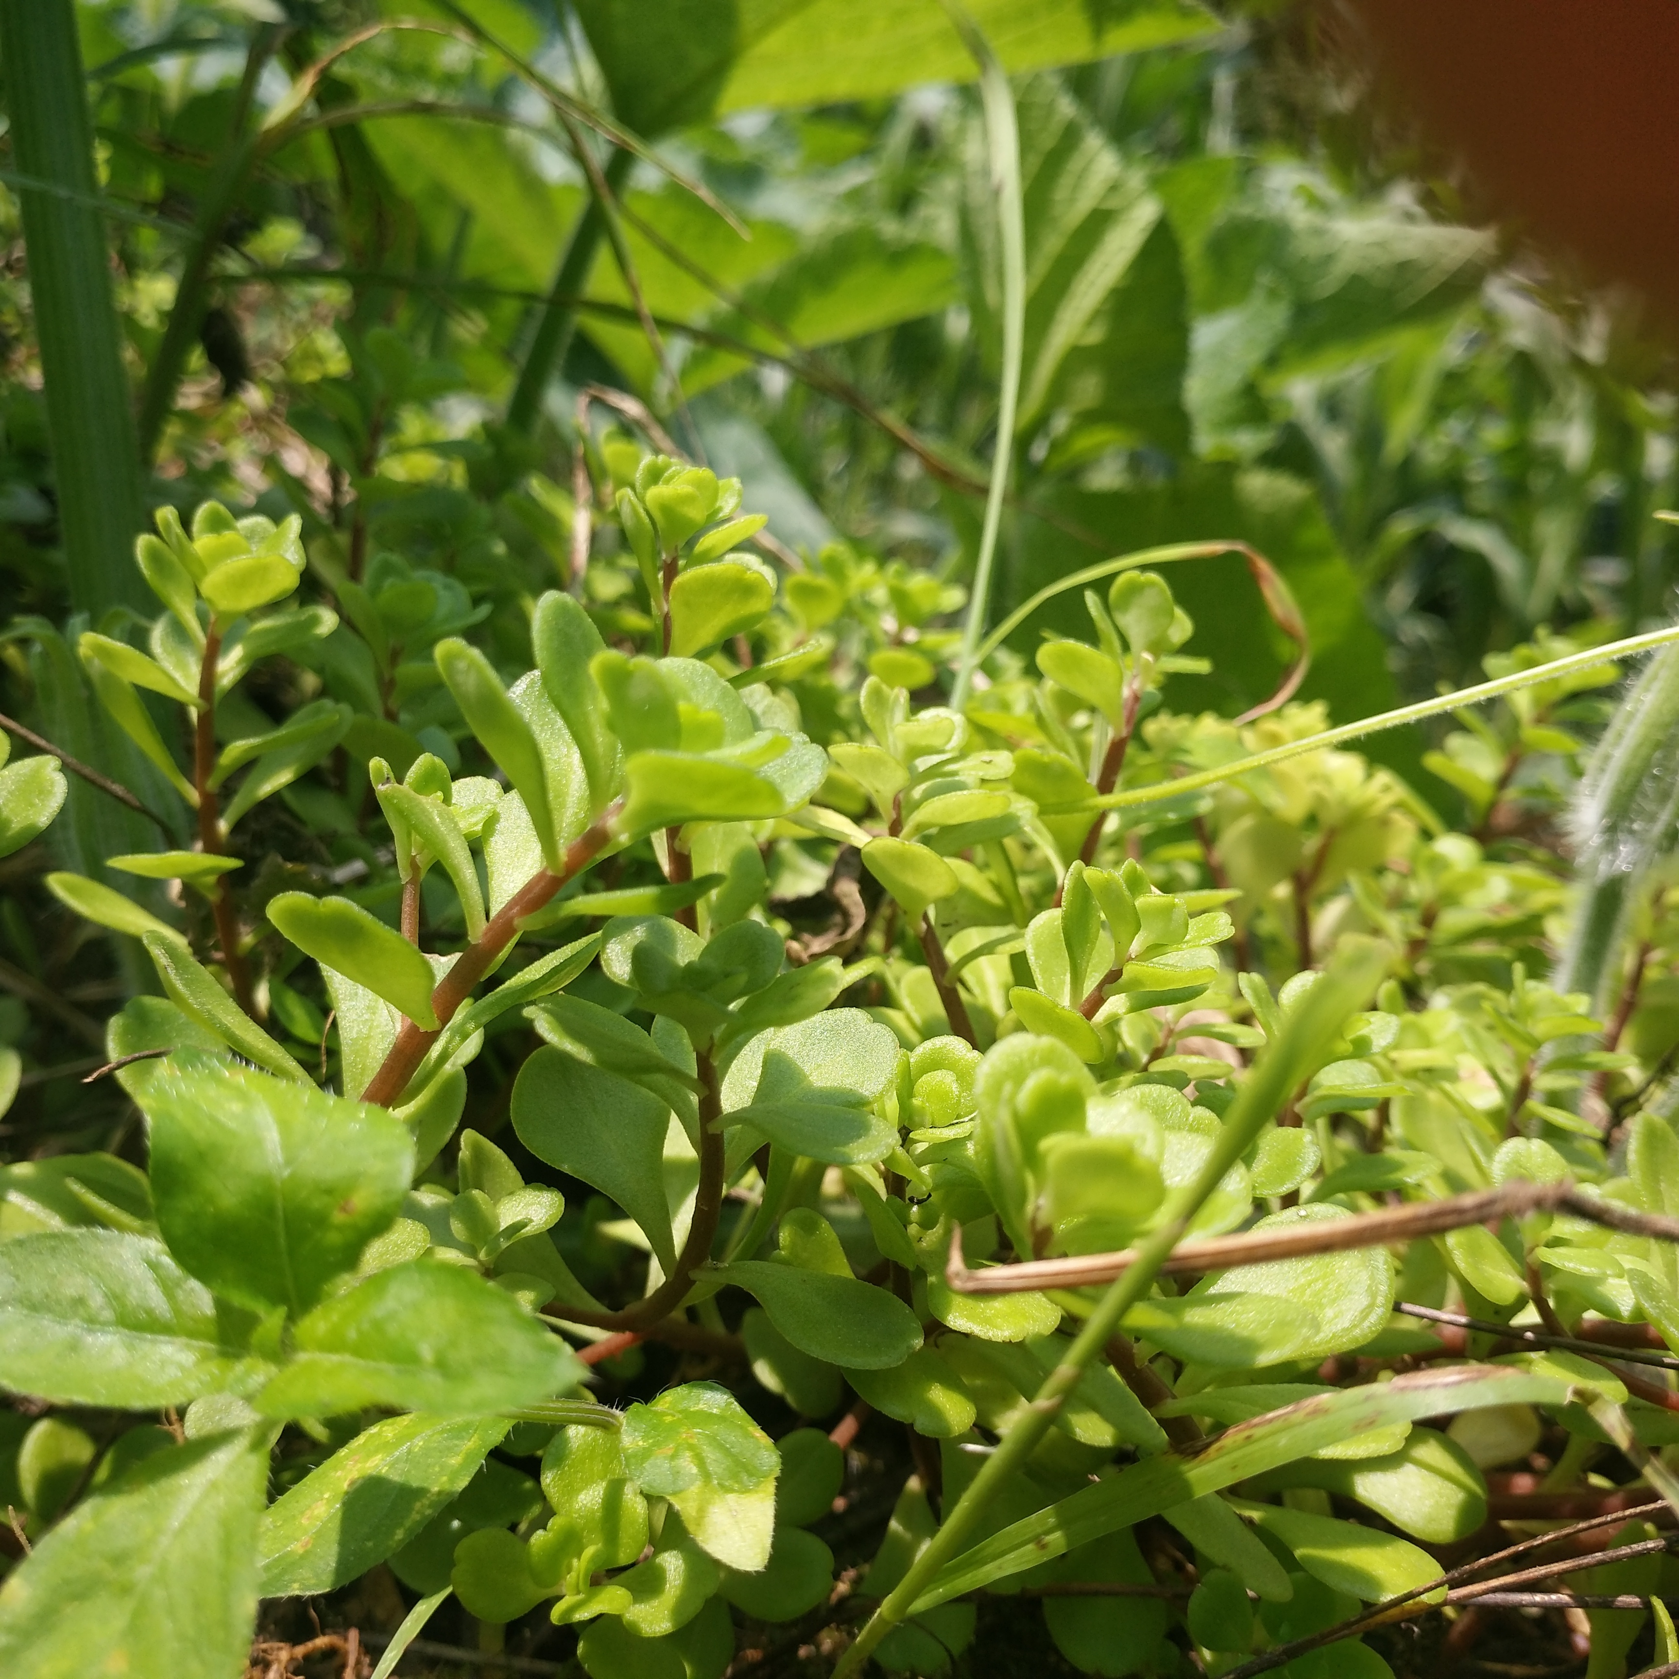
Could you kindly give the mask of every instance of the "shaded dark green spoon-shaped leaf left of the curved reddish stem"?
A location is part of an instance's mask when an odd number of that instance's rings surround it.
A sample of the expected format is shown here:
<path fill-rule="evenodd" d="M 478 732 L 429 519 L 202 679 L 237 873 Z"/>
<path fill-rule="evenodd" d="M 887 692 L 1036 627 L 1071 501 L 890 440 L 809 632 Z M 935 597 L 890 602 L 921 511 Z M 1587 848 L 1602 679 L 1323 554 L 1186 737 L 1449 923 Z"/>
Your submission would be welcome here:
<path fill-rule="evenodd" d="M 665 1101 L 628 1078 L 549 1048 L 519 1070 L 512 1120 L 531 1153 L 616 1200 L 641 1226 L 667 1273 L 675 1268 L 665 1199 Z"/>

